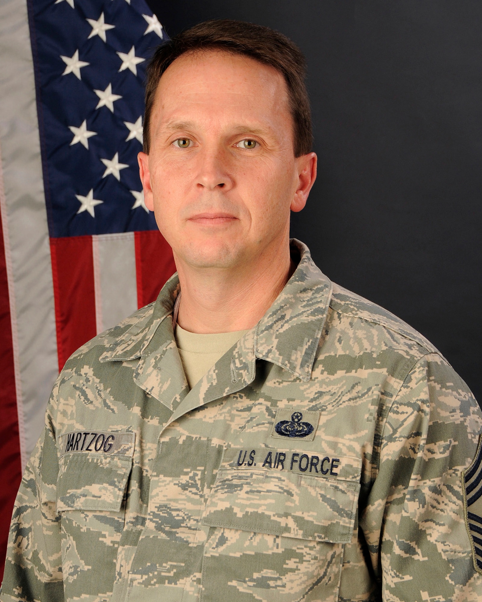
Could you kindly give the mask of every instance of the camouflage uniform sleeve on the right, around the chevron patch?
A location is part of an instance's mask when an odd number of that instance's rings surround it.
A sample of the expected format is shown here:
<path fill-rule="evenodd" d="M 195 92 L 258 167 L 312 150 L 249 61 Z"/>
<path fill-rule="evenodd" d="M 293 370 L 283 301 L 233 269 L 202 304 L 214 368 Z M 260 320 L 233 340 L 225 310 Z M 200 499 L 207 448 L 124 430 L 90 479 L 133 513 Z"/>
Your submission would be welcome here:
<path fill-rule="evenodd" d="M 482 600 L 464 491 L 481 424 L 468 387 L 437 354 L 416 363 L 389 406 L 360 520 L 384 601 Z"/>

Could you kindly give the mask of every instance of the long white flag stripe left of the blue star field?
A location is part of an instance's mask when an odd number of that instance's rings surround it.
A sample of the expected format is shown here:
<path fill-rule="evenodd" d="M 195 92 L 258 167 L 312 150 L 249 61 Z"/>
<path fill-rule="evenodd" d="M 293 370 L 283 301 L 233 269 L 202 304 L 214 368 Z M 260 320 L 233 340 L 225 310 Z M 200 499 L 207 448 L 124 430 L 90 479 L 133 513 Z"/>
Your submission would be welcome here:
<path fill-rule="evenodd" d="M 8 287 L 22 468 L 40 435 L 58 373 L 54 291 L 27 4 L 0 4 L 2 219 L 8 231 Z"/>

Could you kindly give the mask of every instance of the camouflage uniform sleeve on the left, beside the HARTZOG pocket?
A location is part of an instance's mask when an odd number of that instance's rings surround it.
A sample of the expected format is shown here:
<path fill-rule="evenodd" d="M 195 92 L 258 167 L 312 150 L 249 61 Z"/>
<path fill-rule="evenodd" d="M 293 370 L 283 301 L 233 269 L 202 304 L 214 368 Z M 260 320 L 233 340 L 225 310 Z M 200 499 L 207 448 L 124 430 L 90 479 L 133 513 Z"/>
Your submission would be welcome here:
<path fill-rule="evenodd" d="M 13 509 L 0 602 L 64 600 L 57 475 L 48 409 L 45 429 L 25 468 Z"/>

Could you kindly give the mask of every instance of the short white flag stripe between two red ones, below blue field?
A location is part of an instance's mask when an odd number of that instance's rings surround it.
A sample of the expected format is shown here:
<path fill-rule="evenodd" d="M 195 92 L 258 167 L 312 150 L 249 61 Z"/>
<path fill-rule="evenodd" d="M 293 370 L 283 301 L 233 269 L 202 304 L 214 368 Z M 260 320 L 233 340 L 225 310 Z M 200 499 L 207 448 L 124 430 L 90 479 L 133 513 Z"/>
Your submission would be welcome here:
<path fill-rule="evenodd" d="M 137 309 L 134 232 L 92 237 L 97 334 Z"/>

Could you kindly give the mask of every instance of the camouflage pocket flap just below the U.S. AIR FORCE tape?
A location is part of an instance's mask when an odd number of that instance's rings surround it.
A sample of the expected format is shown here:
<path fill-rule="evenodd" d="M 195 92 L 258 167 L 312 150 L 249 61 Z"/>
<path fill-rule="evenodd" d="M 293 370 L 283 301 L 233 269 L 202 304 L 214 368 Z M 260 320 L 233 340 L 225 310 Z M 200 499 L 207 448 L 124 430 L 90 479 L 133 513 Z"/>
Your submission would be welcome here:
<path fill-rule="evenodd" d="M 296 539 L 351 541 L 360 492 L 354 475 L 322 479 L 223 465 L 227 462 L 222 462 L 216 476 L 203 524 Z"/>

